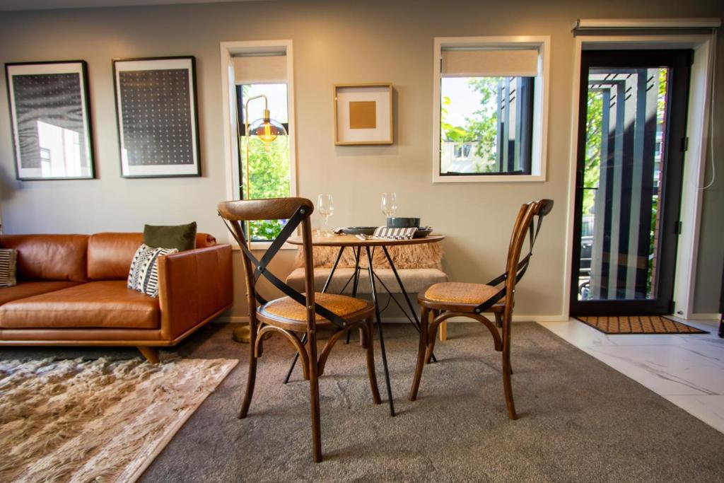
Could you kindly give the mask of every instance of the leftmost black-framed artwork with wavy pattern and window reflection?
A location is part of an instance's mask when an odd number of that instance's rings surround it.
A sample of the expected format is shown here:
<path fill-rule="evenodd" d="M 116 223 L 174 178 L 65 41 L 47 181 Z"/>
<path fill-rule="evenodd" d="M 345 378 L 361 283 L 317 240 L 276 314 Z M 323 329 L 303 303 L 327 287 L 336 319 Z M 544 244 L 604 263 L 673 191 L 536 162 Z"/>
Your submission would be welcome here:
<path fill-rule="evenodd" d="M 85 61 L 5 64 L 5 80 L 17 179 L 93 179 Z"/>

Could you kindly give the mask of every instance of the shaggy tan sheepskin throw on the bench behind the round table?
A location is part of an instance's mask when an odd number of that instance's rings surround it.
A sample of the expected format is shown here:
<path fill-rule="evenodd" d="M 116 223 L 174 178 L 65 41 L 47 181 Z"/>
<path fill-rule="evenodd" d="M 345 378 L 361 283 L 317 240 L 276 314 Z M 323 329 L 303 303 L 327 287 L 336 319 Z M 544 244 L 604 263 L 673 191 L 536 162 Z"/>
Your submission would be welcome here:
<path fill-rule="evenodd" d="M 340 248 L 335 246 L 315 246 L 313 247 L 313 258 L 315 268 L 329 268 L 337 259 L 337 253 Z M 397 269 L 438 269 L 442 270 L 442 246 L 440 243 L 421 243 L 418 245 L 392 245 L 387 247 L 390 252 L 392 261 L 395 262 Z M 361 264 L 366 266 L 367 255 L 364 250 L 361 251 Z M 372 263 L 375 269 L 389 269 L 390 264 L 387 257 L 384 256 L 382 248 L 375 247 L 372 251 Z M 294 268 L 304 266 L 302 256 L 302 248 L 297 251 L 297 259 Z M 354 248 L 345 248 L 342 253 L 342 259 L 338 268 L 354 268 L 355 251 Z"/>

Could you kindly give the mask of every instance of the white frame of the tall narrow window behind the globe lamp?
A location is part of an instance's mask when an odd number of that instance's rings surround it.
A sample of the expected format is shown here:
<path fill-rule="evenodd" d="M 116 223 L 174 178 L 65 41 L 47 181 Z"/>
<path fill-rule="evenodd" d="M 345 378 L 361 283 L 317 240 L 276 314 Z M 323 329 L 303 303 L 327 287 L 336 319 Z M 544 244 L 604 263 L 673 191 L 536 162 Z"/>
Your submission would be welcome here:
<path fill-rule="evenodd" d="M 222 42 L 221 49 L 221 67 L 222 67 L 222 108 L 224 116 L 224 157 L 226 159 L 226 180 L 227 180 L 227 200 L 239 200 L 241 185 L 241 176 L 239 172 L 239 136 L 240 132 L 237 123 L 237 96 L 236 96 L 236 80 L 234 75 L 233 58 L 240 55 L 264 55 L 264 54 L 284 54 L 287 62 L 287 78 L 274 79 L 256 82 L 263 83 L 285 83 L 287 84 L 287 108 L 288 108 L 288 124 L 287 135 L 289 135 L 289 161 L 290 161 L 290 196 L 298 196 L 297 186 L 297 143 L 295 129 L 295 90 L 294 90 L 294 56 L 291 40 L 281 41 L 239 41 L 239 42 Z M 240 250 L 238 243 L 229 234 L 229 243 L 234 250 Z M 251 248 L 253 250 L 266 250 L 271 245 L 271 241 L 253 241 Z M 282 250 L 296 250 L 295 245 L 285 243 Z"/>

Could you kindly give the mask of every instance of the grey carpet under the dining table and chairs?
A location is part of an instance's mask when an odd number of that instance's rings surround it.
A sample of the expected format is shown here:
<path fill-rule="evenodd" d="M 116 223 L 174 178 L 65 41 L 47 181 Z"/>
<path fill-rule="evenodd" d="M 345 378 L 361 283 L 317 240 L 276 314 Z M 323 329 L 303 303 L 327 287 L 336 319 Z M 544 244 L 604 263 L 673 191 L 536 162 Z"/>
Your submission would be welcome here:
<path fill-rule="evenodd" d="M 247 345 L 213 324 L 182 356 L 242 358 L 146 471 L 143 482 L 720 482 L 724 435 L 533 323 L 514 324 L 508 420 L 500 354 L 477 324 L 450 324 L 407 400 L 416 353 L 409 324 L 385 325 L 398 415 L 371 401 L 364 352 L 338 344 L 320 379 L 324 461 L 311 462 L 308 384 L 281 379 L 292 350 L 272 337 L 247 419 L 236 419 Z M 135 356 L 132 349 L 7 349 L 0 357 Z M 380 392 L 384 378 L 376 351 Z"/>

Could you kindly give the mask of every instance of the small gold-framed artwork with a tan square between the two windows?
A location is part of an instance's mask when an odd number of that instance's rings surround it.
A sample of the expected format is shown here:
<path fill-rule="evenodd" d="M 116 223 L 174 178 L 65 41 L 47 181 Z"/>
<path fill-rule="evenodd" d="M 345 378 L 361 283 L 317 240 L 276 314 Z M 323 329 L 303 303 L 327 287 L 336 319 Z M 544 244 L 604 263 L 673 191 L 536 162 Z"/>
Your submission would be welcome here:
<path fill-rule="evenodd" d="M 392 84 L 334 85 L 334 144 L 392 144 Z"/>

